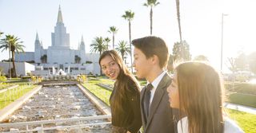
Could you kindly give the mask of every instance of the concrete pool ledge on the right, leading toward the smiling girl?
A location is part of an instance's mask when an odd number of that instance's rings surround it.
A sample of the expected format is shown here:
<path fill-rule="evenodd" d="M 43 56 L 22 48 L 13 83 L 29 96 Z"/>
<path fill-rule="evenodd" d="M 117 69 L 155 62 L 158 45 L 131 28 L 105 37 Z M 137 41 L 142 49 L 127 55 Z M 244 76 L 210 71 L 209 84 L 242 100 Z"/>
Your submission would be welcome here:
<path fill-rule="evenodd" d="M 96 105 L 96 107 L 102 111 L 103 114 L 105 115 L 111 115 L 111 110 L 110 107 L 107 106 L 104 102 L 102 102 L 102 100 L 99 100 L 97 96 L 94 96 L 93 93 L 91 93 L 90 91 L 88 91 L 86 88 L 84 88 L 81 84 L 77 84 L 78 88 L 80 88 L 82 90 L 82 92 L 84 92 L 84 94 L 90 99 L 90 101 L 92 103 L 94 103 Z M 110 120 L 110 119 L 109 119 Z"/>

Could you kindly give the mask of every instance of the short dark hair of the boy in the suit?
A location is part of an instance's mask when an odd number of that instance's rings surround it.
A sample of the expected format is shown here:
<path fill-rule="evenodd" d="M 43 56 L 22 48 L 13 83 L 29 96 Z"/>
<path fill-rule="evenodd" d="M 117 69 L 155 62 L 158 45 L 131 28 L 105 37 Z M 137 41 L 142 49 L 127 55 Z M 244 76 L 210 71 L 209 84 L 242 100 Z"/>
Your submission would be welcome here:
<path fill-rule="evenodd" d="M 146 55 L 146 58 L 156 55 L 159 58 L 161 68 L 166 67 L 169 58 L 168 47 L 165 41 L 160 37 L 142 37 L 131 42 L 134 47 L 140 49 Z"/>

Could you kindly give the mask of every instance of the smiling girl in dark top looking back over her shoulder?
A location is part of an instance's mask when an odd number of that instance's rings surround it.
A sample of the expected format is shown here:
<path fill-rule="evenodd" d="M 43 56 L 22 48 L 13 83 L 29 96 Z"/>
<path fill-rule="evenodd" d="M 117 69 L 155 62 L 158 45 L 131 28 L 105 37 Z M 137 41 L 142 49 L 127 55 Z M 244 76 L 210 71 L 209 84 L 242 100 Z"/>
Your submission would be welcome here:
<path fill-rule="evenodd" d="M 98 62 L 102 72 L 110 79 L 115 80 L 110 96 L 113 132 L 138 132 L 142 127 L 138 81 L 114 50 L 103 52 Z"/>

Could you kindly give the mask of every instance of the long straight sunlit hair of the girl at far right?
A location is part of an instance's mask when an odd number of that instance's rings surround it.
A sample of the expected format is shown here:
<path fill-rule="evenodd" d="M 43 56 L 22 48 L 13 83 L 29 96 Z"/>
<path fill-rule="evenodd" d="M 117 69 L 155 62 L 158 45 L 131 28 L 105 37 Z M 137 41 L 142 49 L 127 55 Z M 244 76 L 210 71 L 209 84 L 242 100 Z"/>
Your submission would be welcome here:
<path fill-rule="evenodd" d="M 185 62 L 176 69 L 180 109 L 190 133 L 223 133 L 223 85 L 210 65 Z"/>

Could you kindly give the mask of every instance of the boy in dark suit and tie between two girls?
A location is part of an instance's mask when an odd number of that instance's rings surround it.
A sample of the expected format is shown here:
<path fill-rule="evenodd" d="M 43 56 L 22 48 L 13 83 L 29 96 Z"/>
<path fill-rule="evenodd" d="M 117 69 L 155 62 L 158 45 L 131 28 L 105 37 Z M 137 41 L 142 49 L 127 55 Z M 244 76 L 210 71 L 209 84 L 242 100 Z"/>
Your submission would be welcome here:
<path fill-rule="evenodd" d="M 132 41 L 134 45 L 134 68 L 138 78 L 146 78 L 140 104 L 142 126 L 145 133 L 174 133 L 174 120 L 166 88 L 170 76 L 166 73 L 168 48 L 160 37 L 142 37 Z"/>

